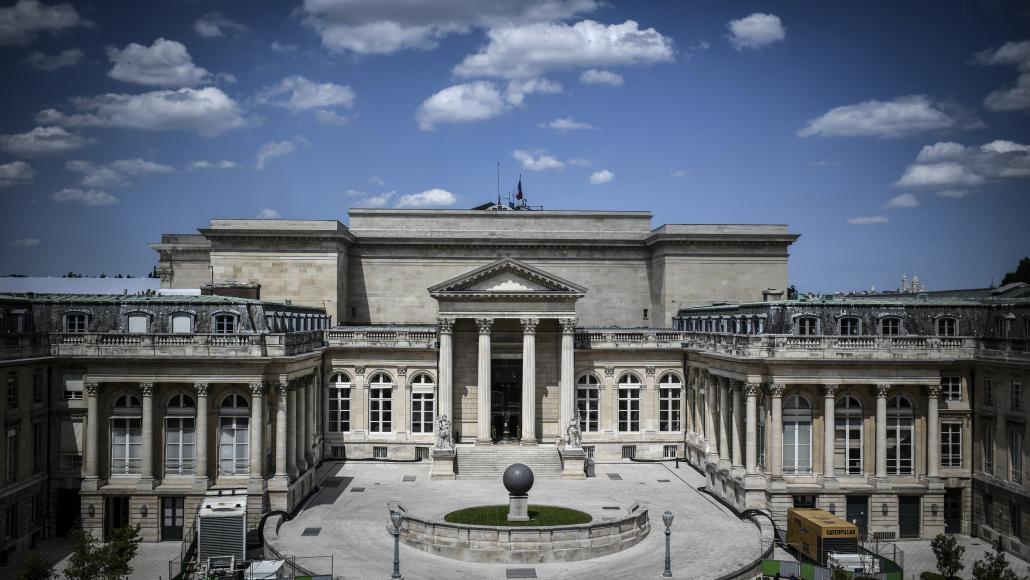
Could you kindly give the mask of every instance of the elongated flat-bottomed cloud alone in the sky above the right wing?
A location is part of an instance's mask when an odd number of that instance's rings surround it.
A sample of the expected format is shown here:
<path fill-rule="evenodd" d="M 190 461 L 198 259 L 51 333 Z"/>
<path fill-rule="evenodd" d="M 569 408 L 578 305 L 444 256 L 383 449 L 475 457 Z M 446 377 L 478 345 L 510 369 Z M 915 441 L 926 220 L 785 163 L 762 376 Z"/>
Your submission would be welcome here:
<path fill-rule="evenodd" d="M 925 95 L 865 101 L 830 109 L 797 132 L 799 137 L 902 137 L 953 127 L 956 121 Z"/>

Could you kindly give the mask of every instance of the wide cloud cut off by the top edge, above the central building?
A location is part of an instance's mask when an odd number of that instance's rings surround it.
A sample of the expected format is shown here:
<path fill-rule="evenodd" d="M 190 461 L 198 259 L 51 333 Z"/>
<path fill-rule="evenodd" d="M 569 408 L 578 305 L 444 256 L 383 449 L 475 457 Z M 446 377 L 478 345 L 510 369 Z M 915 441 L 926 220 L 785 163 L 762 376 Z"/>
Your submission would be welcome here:
<path fill-rule="evenodd" d="M 304 24 L 337 53 L 386 55 L 431 49 L 441 38 L 501 24 L 563 21 L 594 0 L 305 0 Z"/>

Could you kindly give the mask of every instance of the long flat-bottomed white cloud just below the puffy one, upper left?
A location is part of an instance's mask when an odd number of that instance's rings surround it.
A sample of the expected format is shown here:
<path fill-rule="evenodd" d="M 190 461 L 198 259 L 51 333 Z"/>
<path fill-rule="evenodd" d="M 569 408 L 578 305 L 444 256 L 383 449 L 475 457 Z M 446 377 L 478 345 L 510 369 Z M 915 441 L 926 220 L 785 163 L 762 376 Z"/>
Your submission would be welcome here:
<path fill-rule="evenodd" d="M 81 112 L 44 109 L 36 114 L 36 121 L 65 127 L 187 130 L 208 137 L 247 125 L 239 104 L 216 87 L 138 95 L 108 93 L 72 99 L 71 103 Z"/>

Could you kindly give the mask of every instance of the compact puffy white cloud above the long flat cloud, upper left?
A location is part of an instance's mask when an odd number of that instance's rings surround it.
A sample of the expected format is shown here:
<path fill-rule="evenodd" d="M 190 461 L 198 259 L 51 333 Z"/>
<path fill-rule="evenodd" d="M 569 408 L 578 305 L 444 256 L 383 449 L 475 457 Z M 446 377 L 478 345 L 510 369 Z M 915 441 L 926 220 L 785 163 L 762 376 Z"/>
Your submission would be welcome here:
<path fill-rule="evenodd" d="M 123 49 L 107 47 L 107 58 L 114 66 L 107 76 L 123 82 L 148 87 L 193 87 L 208 82 L 212 75 L 193 63 L 185 45 L 159 38 L 144 46 L 135 42 Z"/>

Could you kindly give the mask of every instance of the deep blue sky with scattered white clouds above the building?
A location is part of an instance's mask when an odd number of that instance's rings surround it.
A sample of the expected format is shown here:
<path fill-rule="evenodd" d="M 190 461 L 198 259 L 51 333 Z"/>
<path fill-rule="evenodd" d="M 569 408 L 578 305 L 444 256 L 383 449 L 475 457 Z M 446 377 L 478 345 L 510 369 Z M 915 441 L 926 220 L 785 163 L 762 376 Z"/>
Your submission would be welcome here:
<path fill-rule="evenodd" d="M 1030 253 L 1019 2 L 0 5 L 0 272 L 141 275 L 212 217 L 534 205 L 779 223 L 828 292 Z"/>

